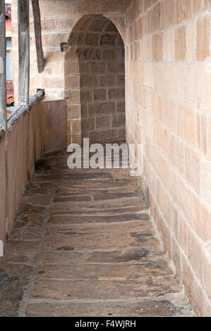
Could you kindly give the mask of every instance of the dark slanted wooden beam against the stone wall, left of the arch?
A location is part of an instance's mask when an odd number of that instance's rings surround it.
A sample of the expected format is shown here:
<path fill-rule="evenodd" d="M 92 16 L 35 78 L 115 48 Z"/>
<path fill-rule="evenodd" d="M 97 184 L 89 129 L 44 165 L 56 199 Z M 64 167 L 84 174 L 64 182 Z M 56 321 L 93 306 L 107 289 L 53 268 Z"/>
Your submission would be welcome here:
<path fill-rule="evenodd" d="M 38 73 L 42 73 L 44 70 L 44 57 L 43 57 L 43 51 L 42 51 L 42 35 L 41 35 L 39 0 L 32 0 L 32 9 L 33 9 L 34 25 L 35 25 L 37 68 L 38 68 Z"/>

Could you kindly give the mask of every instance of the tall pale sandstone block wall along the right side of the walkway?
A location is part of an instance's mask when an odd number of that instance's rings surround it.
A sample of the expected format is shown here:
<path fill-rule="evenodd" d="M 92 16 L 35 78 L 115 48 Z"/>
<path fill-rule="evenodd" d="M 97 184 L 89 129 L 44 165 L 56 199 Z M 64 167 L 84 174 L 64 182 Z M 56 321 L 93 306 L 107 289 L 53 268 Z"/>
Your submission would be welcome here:
<path fill-rule="evenodd" d="M 133 1 L 126 12 L 126 136 L 195 312 L 211 315 L 211 1 Z"/>

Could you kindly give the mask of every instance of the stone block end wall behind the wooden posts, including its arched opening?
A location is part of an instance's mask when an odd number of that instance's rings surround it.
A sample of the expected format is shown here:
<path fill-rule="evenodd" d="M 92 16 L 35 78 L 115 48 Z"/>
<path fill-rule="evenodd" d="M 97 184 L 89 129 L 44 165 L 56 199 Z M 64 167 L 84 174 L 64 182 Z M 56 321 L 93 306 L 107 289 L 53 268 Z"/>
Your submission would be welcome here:
<path fill-rule="evenodd" d="M 35 94 L 37 88 L 44 86 L 47 99 L 66 99 L 68 143 L 80 143 L 83 137 L 90 137 L 91 142 L 125 139 L 124 56 L 121 37 L 124 37 L 125 30 L 124 13 L 131 0 L 39 2 L 45 67 L 42 74 L 37 73 L 35 34 L 30 7 L 30 95 Z M 99 15 L 102 24 L 97 22 L 95 15 Z M 12 19 L 13 77 L 17 103 L 16 0 L 13 0 Z M 116 25 L 118 32 L 112 23 Z M 102 36 L 104 29 L 108 29 L 107 35 L 110 35 L 110 39 Z M 80 32 L 79 39 L 77 30 Z M 72 47 L 66 53 L 61 51 L 61 43 L 71 44 Z M 77 50 L 81 53 L 82 48 L 90 49 L 90 46 L 93 63 L 89 61 L 88 52 L 85 52 L 85 57 L 84 54 L 76 54 Z M 96 52 L 97 58 L 93 57 Z M 96 63 L 98 61 L 104 63 L 104 68 L 100 69 L 100 64 Z M 85 106 L 87 103 L 89 106 Z M 85 110 L 85 107 L 89 108 L 89 111 Z"/>

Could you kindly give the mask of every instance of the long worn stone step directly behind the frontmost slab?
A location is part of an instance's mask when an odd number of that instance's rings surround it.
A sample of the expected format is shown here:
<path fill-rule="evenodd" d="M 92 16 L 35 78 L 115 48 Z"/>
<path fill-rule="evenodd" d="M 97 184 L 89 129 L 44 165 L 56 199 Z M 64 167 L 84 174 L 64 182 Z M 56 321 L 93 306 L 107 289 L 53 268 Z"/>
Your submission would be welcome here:
<path fill-rule="evenodd" d="M 135 300 L 176 292 L 179 292 L 179 284 L 175 276 L 128 280 L 36 280 L 30 299 Z"/>

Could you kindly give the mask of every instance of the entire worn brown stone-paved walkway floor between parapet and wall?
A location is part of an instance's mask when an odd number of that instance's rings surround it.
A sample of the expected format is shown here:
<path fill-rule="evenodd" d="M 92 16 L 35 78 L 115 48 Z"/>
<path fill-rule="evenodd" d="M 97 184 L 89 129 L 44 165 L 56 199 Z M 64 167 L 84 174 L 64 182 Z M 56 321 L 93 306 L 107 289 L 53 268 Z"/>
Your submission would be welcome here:
<path fill-rule="evenodd" d="M 129 169 L 37 170 L 0 259 L 0 316 L 194 316 Z"/>

